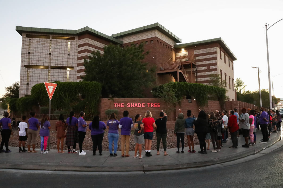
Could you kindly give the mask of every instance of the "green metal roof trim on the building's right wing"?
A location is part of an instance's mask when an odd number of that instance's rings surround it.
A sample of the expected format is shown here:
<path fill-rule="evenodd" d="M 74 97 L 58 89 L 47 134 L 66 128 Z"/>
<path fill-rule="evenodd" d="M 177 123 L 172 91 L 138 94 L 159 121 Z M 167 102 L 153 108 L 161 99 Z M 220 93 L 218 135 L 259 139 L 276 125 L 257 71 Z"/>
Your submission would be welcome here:
<path fill-rule="evenodd" d="M 204 43 L 211 43 L 211 42 L 218 42 L 228 52 L 228 54 L 232 57 L 232 59 L 235 61 L 237 60 L 237 57 L 233 54 L 233 52 L 230 50 L 230 48 L 226 45 L 226 43 L 223 41 L 221 37 L 215 38 L 215 39 L 208 39 L 204 41 L 197 41 L 197 42 L 191 42 L 191 43 L 185 43 L 185 44 L 177 44 L 174 46 L 174 48 L 185 48 L 189 46 L 204 44 Z"/>

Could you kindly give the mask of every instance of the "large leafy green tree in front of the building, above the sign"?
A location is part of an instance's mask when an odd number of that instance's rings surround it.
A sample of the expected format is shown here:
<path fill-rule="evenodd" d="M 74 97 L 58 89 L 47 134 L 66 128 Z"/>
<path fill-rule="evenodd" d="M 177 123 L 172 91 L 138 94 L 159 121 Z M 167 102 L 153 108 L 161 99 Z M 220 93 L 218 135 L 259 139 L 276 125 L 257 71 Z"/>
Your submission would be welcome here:
<path fill-rule="evenodd" d="M 149 66 L 143 59 L 143 45 L 121 48 L 110 44 L 104 54 L 94 51 L 89 60 L 84 60 L 85 81 L 97 81 L 102 85 L 102 97 L 138 98 L 155 81 L 156 67 Z"/>

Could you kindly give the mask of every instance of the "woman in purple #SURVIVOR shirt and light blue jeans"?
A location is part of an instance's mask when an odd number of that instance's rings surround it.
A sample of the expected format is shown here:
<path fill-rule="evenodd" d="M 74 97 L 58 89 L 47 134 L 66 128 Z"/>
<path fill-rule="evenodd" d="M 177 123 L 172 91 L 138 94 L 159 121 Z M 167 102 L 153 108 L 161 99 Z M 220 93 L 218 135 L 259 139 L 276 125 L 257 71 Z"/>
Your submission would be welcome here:
<path fill-rule="evenodd" d="M 106 123 L 108 131 L 108 142 L 109 142 L 109 151 L 110 151 L 110 157 L 117 156 L 117 148 L 118 148 L 118 139 L 119 139 L 119 121 L 116 118 L 116 114 L 112 113 L 110 115 L 109 120 Z M 114 141 L 114 154 L 112 153 L 112 143 Z"/>

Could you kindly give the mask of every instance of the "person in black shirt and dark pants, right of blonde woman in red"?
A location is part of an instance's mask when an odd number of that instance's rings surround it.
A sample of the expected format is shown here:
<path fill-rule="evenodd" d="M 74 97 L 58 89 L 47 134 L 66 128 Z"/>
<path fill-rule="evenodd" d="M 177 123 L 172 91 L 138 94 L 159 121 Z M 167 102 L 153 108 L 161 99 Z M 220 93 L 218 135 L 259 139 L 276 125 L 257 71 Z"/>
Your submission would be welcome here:
<path fill-rule="evenodd" d="M 160 141 L 162 138 L 162 143 L 163 143 L 163 149 L 164 149 L 164 155 L 168 155 L 166 152 L 166 137 L 167 137 L 167 128 L 166 128 L 166 122 L 167 122 L 167 115 L 166 113 L 161 110 L 159 113 L 159 118 L 155 120 L 155 131 L 156 131 L 156 149 L 157 149 L 157 154 L 159 155 L 159 145 Z"/>

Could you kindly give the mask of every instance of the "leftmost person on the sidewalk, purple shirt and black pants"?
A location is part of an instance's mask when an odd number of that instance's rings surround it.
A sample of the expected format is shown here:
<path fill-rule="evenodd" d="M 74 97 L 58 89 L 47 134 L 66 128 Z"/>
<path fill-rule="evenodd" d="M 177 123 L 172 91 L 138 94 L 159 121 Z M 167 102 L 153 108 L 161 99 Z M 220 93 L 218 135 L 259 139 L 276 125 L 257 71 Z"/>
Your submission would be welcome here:
<path fill-rule="evenodd" d="M 10 136 L 13 135 L 13 132 L 12 132 L 12 126 L 11 126 L 11 119 L 8 118 L 8 116 L 9 116 L 9 113 L 4 112 L 5 118 L 2 118 L 0 120 L 0 125 L 2 125 L 2 127 L 3 127 L 2 131 L 1 131 L 2 141 L 1 141 L 0 153 L 5 151 L 5 150 L 3 150 L 4 144 L 5 144 L 5 147 L 6 147 L 5 153 L 11 152 L 9 150 L 9 139 L 10 139 Z"/>

